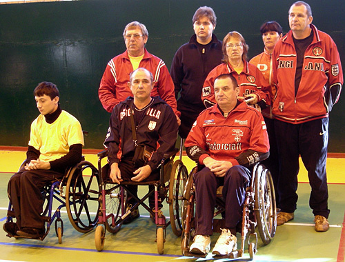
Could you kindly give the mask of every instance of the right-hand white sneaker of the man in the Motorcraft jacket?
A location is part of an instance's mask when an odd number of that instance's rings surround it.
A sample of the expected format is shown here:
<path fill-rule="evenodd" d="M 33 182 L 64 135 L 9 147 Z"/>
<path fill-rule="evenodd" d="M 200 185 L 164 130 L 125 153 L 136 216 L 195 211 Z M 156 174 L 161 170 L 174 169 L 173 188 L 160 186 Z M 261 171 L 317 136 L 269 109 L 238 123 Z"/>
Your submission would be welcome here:
<path fill-rule="evenodd" d="M 222 229 L 221 235 L 213 248 L 212 254 L 225 256 L 237 250 L 237 238 L 231 234 L 230 230 Z"/>

